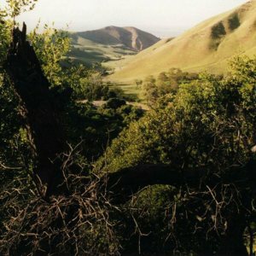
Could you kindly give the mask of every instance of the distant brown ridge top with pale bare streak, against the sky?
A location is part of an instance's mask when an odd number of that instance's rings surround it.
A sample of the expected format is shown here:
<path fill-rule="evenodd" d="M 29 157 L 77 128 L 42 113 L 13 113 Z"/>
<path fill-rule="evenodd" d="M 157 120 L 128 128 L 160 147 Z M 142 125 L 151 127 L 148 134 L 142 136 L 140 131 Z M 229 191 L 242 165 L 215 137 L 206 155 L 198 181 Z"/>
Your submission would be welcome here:
<path fill-rule="evenodd" d="M 160 38 L 132 26 L 106 26 L 102 29 L 75 32 L 73 39 L 88 39 L 96 44 L 123 45 L 127 49 L 141 51 L 160 41 Z"/>

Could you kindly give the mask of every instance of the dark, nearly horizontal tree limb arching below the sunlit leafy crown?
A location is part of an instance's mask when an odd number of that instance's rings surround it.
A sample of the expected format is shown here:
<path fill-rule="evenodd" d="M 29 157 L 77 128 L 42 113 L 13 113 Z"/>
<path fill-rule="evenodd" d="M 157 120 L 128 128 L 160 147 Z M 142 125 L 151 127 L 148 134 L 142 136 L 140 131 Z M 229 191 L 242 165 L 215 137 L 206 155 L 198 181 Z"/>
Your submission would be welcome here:
<path fill-rule="evenodd" d="M 256 182 L 255 170 L 256 160 L 251 160 L 247 166 L 234 167 L 221 177 L 213 173 L 211 178 L 207 178 L 207 185 L 213 188 L 219 183 L 237 183 L 239 188 L 241 183 L 244 183 L 251 186 L 253 190 Z M 176 166 L 138 165 L 121 169 L 119 172 L 108 173 L 108 191 L 115 195 L 117 202 L 122 203 L 148 185 L 163 184 L 173 187 L 188 185 L 191 189 L 198 189 L 201 186 L 201 178 L 205 176 L 204 168 L 181 172 Z"/>

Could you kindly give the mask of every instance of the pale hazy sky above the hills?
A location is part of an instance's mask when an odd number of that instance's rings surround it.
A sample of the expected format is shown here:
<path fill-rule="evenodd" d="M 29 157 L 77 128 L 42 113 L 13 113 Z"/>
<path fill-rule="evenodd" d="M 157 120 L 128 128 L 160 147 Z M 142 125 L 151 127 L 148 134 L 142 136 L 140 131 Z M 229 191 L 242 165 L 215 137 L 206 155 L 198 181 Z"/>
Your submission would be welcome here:
<path fill-rule="evenodd" d="M 255 1 L 255 0 L 253 0 Z M 136 26 L 159 37 L 177 36 L 213 15 L 246 0 L 38 0 L 34 10 L 20 16 L 32 29 L 55 22 L 56 28 L 86 31 L 104 26 Z M 0 0 L 3 5 L 4 0 Z"/>

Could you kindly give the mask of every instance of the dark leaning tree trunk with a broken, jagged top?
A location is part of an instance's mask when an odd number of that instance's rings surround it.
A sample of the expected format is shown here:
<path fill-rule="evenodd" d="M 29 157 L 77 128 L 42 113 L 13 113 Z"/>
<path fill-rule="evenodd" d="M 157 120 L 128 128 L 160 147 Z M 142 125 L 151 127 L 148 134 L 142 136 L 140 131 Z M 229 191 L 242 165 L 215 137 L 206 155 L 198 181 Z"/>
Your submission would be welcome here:
<path fill-rule="evenodd" d="M 21 113 L 26 119 L 28 137 L 38 166 L 34 170 L 39 192 L 45 197 L 57 193 L 62 182 L 61 160 L 66 150 L 55 99 L 49 91 L 34 49 L 26 41 L 26 25 L 22 32 L 15 28 L 5 69 L 20 97 Z"/>

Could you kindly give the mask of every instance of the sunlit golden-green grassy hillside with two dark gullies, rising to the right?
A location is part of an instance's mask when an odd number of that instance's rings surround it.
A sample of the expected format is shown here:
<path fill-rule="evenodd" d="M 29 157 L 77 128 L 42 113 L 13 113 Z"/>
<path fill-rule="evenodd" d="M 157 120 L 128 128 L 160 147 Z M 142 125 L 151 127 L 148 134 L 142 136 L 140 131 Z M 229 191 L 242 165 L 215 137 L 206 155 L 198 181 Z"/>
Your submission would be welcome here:
<path fill-rule="evenodd" d="M 226 73 L 230 58 L 242 54 L 256 54 L 255 0 L 205 20 L 177 38 L 161 40 L 126 61 L 116 61 L 115 73 L 108 79 L 129 84 L 171 67 Z"/>

